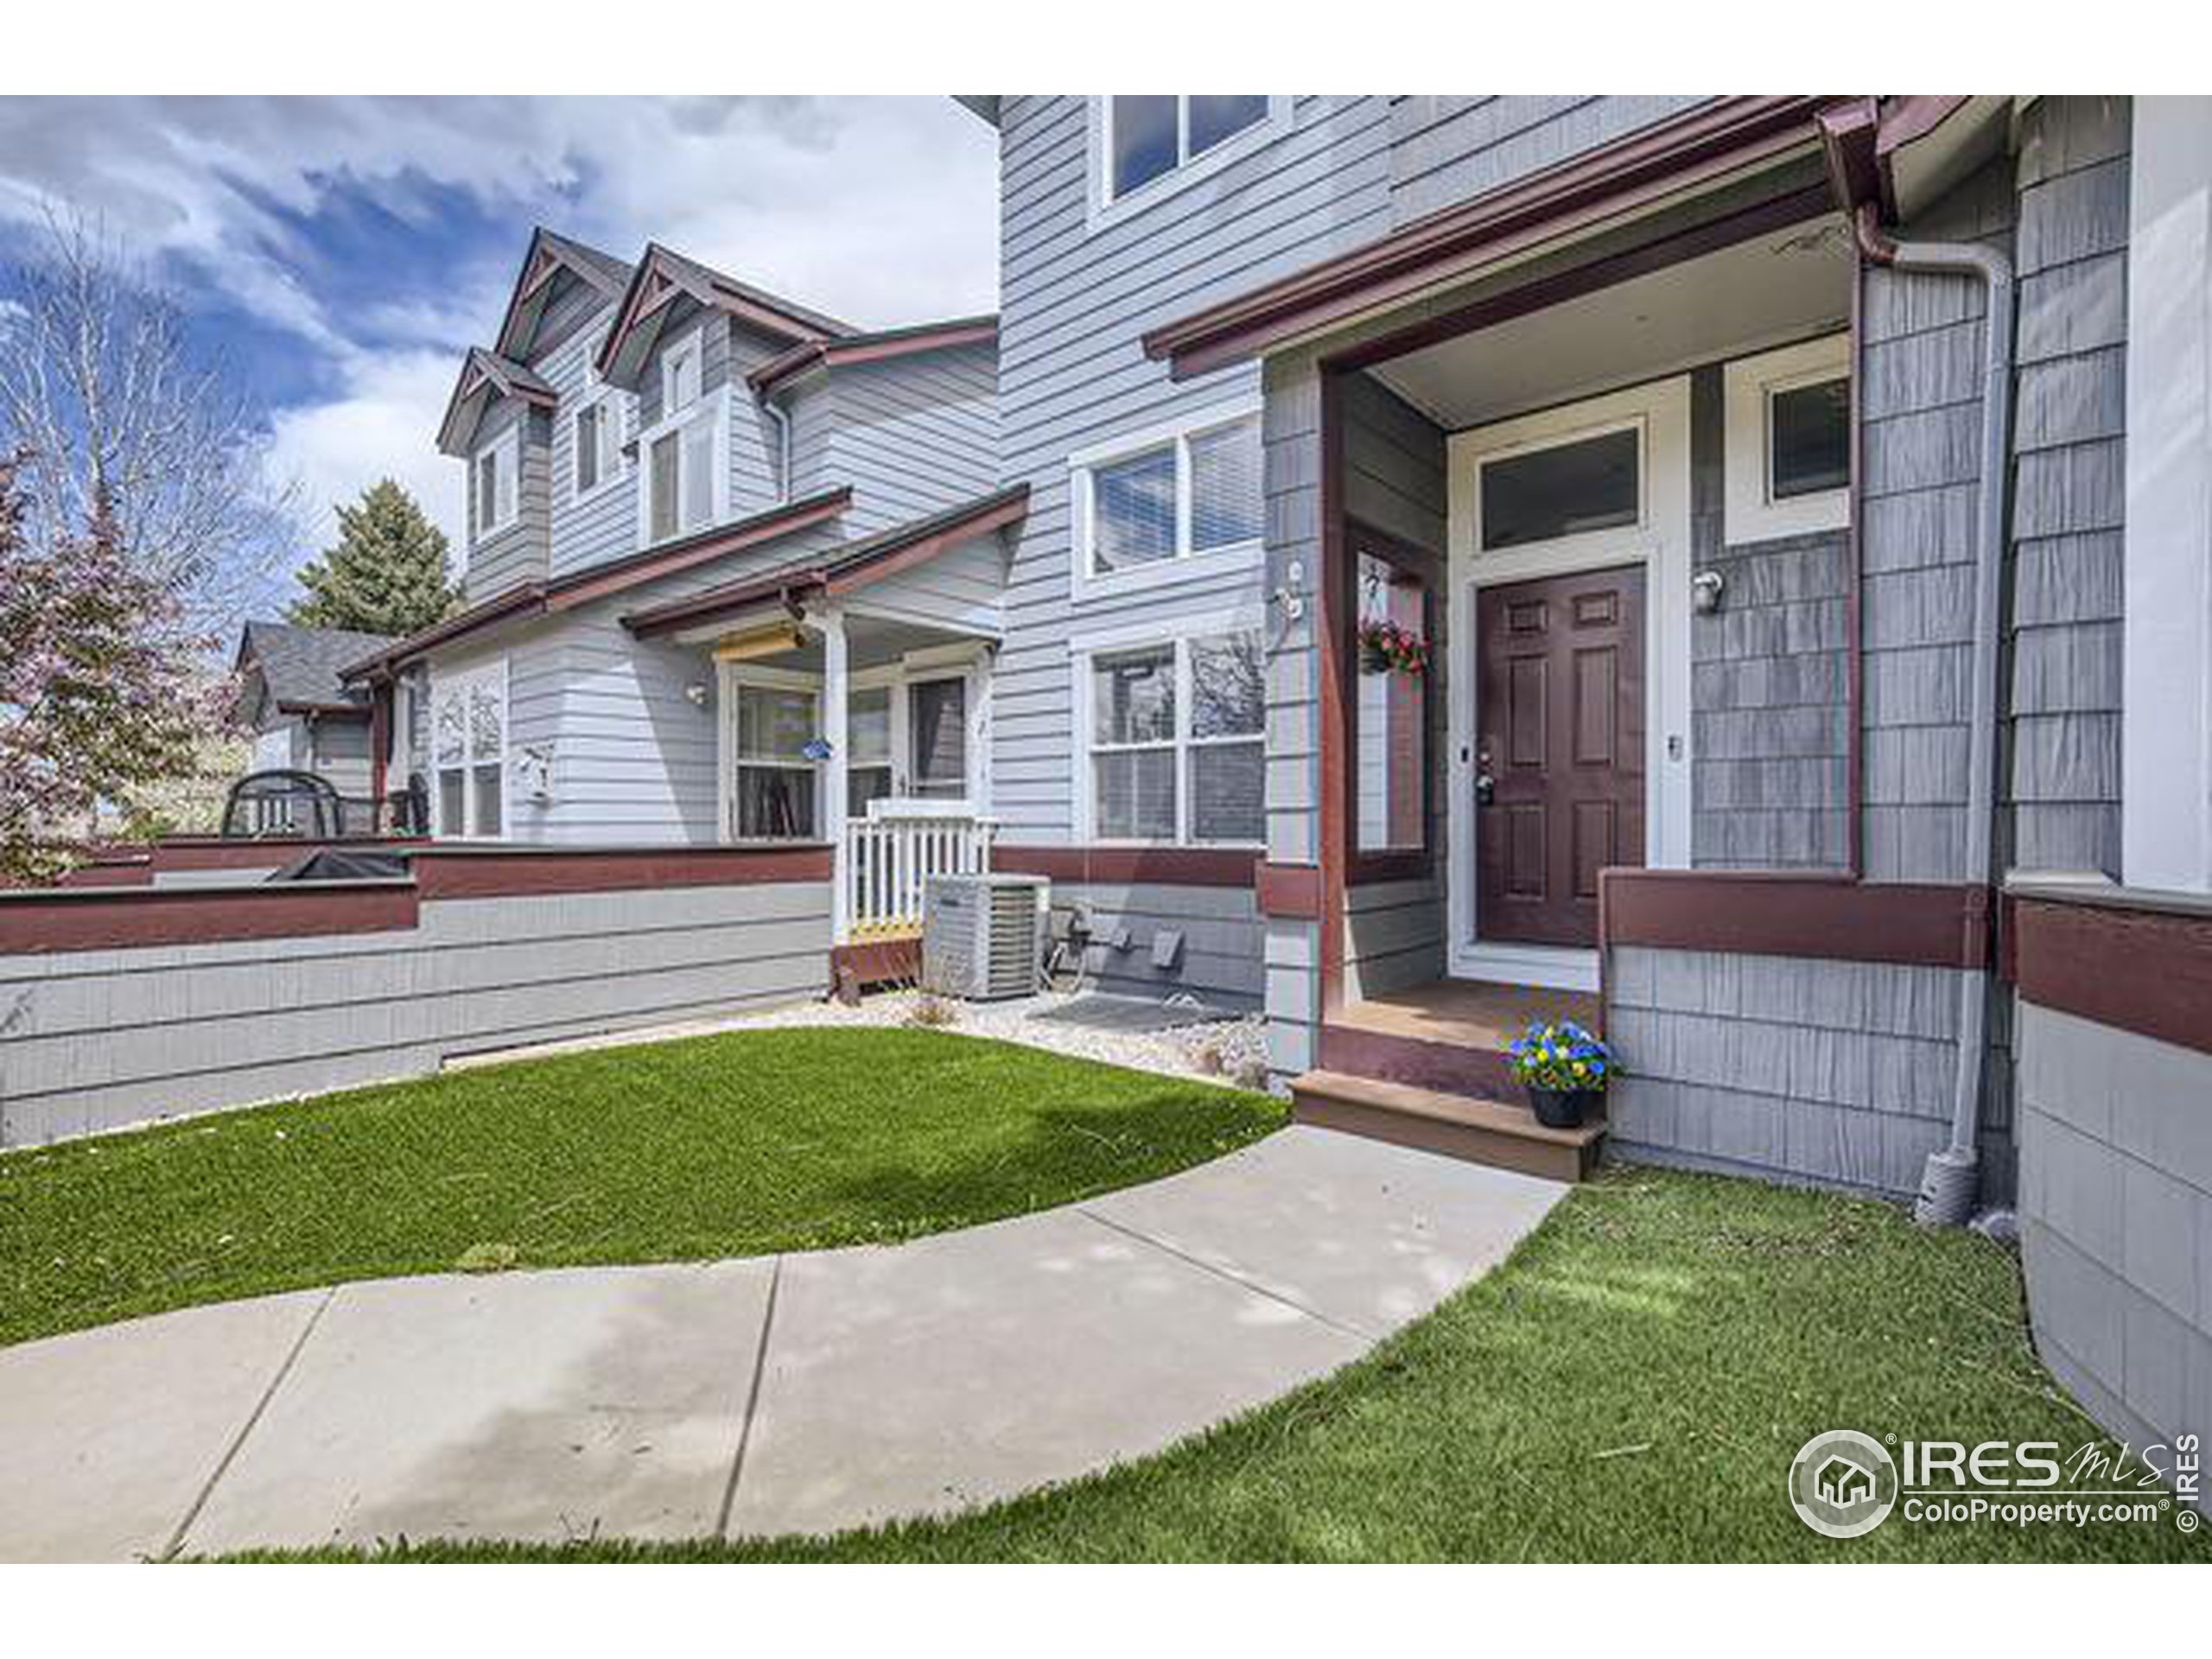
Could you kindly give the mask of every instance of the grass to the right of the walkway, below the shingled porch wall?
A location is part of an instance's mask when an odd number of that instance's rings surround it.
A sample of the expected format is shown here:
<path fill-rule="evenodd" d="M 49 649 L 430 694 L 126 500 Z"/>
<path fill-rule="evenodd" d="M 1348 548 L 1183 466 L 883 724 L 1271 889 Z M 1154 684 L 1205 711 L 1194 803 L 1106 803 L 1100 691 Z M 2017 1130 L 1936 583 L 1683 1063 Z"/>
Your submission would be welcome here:
<path fill-rule="evenodd" d="M 1832 1542 L 1783 1495 L 1820 1429 L 2097 1438 L 2028 1352 L 2020 1276 L 1896 1210 L 1690 1175 L 1577 1190 L 1502 1270 L 1367 1360 L 1141 1464 L 825 1542 L 403 1559 L 2205 1559 L 2150 1526 Z M 2106 1484 L 2106 1482 L 2093 1482 Z M 2154 1495 L 2154 1493 L 2152 1493 Z M 332 1557 L 319 1557 L 332 1559 Z"/>

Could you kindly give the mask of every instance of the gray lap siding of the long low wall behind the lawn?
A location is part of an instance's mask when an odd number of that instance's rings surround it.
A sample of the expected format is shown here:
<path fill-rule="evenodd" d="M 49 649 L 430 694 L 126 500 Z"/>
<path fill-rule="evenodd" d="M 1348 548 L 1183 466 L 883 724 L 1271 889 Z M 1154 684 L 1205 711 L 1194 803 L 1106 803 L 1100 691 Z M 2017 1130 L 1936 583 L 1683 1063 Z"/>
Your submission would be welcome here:
<path fill-rule="evenodd" d="M 816 995 L 830 887 L 478 898 L 416 929 L 0 958 L 0 1146 L 414 1077 L 442 1060 Z"/>

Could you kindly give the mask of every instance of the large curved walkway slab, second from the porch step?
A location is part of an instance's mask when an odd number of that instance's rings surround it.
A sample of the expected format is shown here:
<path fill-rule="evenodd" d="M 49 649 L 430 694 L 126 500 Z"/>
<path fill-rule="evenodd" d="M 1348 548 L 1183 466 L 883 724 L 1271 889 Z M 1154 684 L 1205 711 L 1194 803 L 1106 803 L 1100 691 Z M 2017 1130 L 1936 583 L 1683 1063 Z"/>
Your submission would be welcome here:
<path fill-rule="evenodd" d="M 836 1531 L 1068 1480 L 1363 1347 L 1071 1210 L 787 1256 L 730 1531 Z"/>

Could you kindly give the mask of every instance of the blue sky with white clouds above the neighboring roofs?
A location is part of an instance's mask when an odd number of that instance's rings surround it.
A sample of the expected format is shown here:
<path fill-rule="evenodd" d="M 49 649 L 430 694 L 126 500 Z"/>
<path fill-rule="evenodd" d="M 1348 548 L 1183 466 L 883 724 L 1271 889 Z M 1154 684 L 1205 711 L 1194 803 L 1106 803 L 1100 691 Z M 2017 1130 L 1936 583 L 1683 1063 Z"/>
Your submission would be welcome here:
<path fill-rule="evenodd" d="M 949 97 L 0 100 L 0 263 L 49 204 L 153 261 L 265 403 L 301 557 L 383 473 L 453 535 L 438 414 L 533 223 L 889 325 L 998 303 L 995 190 Z"/>

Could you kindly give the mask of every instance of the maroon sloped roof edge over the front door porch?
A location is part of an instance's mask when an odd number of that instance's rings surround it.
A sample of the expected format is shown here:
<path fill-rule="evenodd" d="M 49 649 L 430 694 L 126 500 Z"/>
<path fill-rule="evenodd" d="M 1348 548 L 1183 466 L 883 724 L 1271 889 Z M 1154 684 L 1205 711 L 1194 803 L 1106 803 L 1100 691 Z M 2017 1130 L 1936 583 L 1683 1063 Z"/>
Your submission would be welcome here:
<path fill-rule="evenodd" d="M 1144 336 L 1177 380 L 1263 356 L 1630 219 L 1672 197 L 1812 153 L 1820 97 L 1721 97 L 1540 168 L 1402 230 L 1208 305 Z"/>

